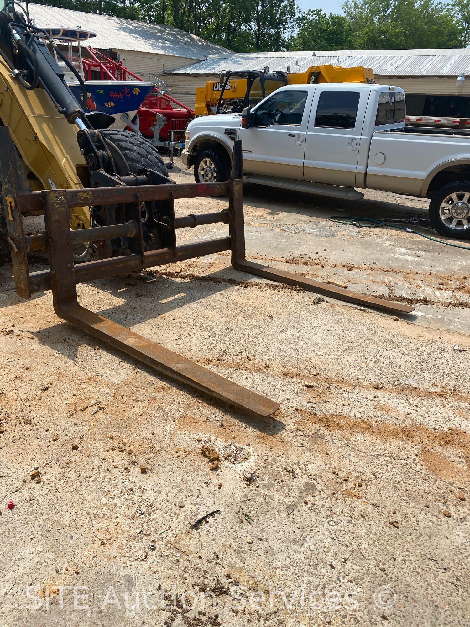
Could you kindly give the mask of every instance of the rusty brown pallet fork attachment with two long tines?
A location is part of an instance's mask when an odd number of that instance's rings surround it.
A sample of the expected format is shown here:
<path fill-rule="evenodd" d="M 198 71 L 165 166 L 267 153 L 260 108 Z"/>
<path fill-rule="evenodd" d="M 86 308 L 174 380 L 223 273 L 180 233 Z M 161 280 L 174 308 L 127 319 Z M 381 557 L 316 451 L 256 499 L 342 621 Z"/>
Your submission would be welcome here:
<path fill-rule="evenodd" d="M 165 375 L 195 387 L 217 399 L 258 416 L 270 416 L 278 408 L 275 401 L 250 391 L 209 371 L 189 359 L 142 335 L 121 327 L 115 322 L 81 306 L 77 300 L 76 284 L 91 280 L 127 274 L 144 268 L 184 261 L 201 255 L 214 255 L 231 251 L 232 266 L 236 270 L 269 280 L 298 285 L 310 292 L 375 307 L 394 314 L 408 313 L 413 307 L 389 302 L 333 287 L 308 277 L 275 270 L 245 258 L 243 222 L 243 179 L 241 167 L 241 142 L 234 142 L 231 178 L 227 182 L 190 184 L 130 184 L 93 187 L 90 189 L 51 189 L 29 191 L 28 179 L 14 147 L 8 127 L 0 127 L 0 164 L 4 206 L 8 207 L 6 221 L 11 246 L 16 292 L 23 298 L 31 294 L 52 290 L 54 310 L 58 317 L 79 329 L 123 350 Z M 145 174 L 145 177 L 148 173 Z M 125 178 L 125 177 L 121 177 Z M 166 179 L 167 180 L 167 179 Z M 121 181 L 123 182 L 123 181 Z M 127 181 L 125 181 L 127 182 Z M 159 182 L 159 181 L 155 181 Z M 174 202 L 181 198 L 227 196 L 228 206 L 223 211 L 186 217 L 174 216 Z M 142 205 L 155 203 L 160 211 L 155 216 L 155 233 L 144 237 Z M 78 206 L 122 206 L 133 208 L 123 212 L 119 223 L 71 231 L 71 209 Z M 135 208 L 138 211 L 135 211 Z M 164 209 L 163 209 L 164 208 Z M 23 214 L 39 211 L 44 214 L 45 233 L 26 236 Z M 228 224 L 225 237 L 177 245 L 176 231 L 195 228 L 201 224 Z M 107 242 L 119 240 L 125 254 L 110 258 L 74 264 L 72 246 L 76 243 Z M 48 270 L 29 271 L 28 251 L 47 250 Z"/>

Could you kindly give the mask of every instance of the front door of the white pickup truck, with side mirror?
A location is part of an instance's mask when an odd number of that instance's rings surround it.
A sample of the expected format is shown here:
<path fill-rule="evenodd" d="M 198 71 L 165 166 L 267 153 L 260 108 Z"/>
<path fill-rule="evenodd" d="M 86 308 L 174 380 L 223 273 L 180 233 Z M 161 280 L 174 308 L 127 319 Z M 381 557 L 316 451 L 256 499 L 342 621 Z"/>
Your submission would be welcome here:
<path fill-rule="evenodd" d="M 239 130 L 244 174 L 303 181 L 305 134 L 314 91 L 281 88 L 253 109 L 253 125 Z"/>

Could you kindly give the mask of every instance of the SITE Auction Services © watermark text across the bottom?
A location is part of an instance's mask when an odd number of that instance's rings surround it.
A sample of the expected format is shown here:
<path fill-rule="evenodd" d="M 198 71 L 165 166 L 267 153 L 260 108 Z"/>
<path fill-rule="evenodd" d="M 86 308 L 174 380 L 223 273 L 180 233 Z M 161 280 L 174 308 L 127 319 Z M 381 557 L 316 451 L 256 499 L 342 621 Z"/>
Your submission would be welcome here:
<path fill-rule="evenodd" d="M 221 602 L 221 597 L 223 601 Z M 392 609 L 397 596 L 388 586 L 378 587 L 373 594 L 350 589 L 347 591 L 306 590 L 295 588 L 290 593 L 281 590 L 265 593 L 249 591 L 244 586 L 227 587 L 224 594 L 220 591 L 204 591 L 196 593 L 185 591 L 177 593 L 173 589 L 165 589 L 160 585 L 157 589 L 137 589 L 132 591 L 119 586 L 108 586 L 107 589 L 95 590 L 88 586 L 28 586 L 26 588 L 26 609 L 31 611 L 49 609 L 52 604 L 60 609 L 83 611 L 92 608 L 115 611 L 132 611 L 137 609 L 217 609 L 219 604 L 226 606 L 227 596 L 231 601 L 230 609 L 253 609 L 268 611 L 287 609 L 297 611 L 310 609 L 313 611 L 354 611 L 359 604 L 373 603 L 377 608 Z"/>

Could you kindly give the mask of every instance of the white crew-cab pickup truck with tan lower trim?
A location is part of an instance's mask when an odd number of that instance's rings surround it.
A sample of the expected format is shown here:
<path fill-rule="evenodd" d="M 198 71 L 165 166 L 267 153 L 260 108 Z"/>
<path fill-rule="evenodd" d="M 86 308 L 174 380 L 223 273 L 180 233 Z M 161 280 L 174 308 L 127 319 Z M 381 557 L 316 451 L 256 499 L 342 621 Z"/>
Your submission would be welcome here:
<path fill-rule="evenodd" d="M 405 127 L 399 87 L 286 85 L 243 113 L 187 127 L 182 161 L 197 182 L 229 175 L 242 140 L 244 180 L 359 199 L 354 187 L 430 198 L 434 228 L 470 238 L 470 134 Z"/>

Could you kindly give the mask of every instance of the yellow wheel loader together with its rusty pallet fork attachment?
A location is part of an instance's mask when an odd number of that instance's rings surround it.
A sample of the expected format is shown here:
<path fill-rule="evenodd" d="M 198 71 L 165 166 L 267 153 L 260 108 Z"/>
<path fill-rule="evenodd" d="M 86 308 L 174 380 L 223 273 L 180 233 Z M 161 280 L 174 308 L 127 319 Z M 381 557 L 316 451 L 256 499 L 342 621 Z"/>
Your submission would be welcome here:
<path fill-rule="evenodd" d="M 234 142 L 229 181 L 173 184 L 149 142 L 107 128 L 107 114 L 85 113 L 51 54 L 55 42 L 15 6 L 9 3 L 11 12 L 0 12 L 0 241 L 2 260 L 11 253 L 19 296 L 52 290 L 60 318 L 184 386 L 261 417 L 279 404 L 86 309 L 78 302 L 76 284 L 231 251 L 239 271 L 368 307 L 412 311 L 248 261 L 241 142 Z M 55 52 L 76 74 L 61 51 Z M 208 196 L 228 198 L 227 206 L 216 213 L 175 215 L 178 199 Z M 23 218 L 31 214 L 44 216 L 43 233 L 26 235 Z M 178 229 L 202 224 L 226 224 L 227 234 L 177 245 Z M 76 260 L 75 245 L 86 246 L 91 255 Z M 31 270 L 28 255 L 41 250 L 50 267 Z"/>

